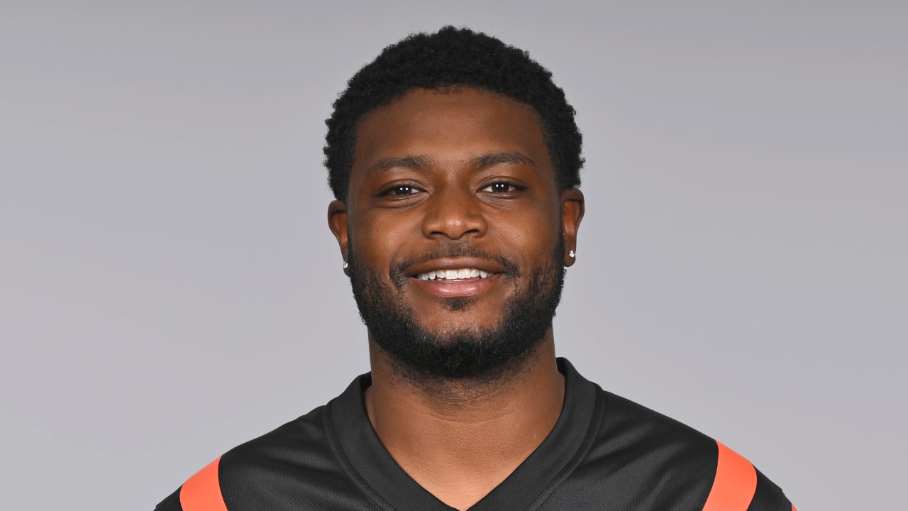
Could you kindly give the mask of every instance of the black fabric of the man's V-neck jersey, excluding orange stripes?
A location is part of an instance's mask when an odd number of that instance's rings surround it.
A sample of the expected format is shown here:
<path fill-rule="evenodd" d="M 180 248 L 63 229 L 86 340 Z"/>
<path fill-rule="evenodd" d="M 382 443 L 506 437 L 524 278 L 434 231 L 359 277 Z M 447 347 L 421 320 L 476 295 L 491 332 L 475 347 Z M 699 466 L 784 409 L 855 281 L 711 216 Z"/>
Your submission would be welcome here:
<path fill-rule="evenodd" d="M 715 440 L 602 390 L 563 358 L 558 368 L 565 400 L 552 432 L 471 511 L 703 509 L 716 477 Z M 419 486 L 381 445 L 363 405 L 368 386 L 370 375 L 360 376 L 328 405 L 225 453 L 213 469 L 226 509 L 454 509 Z M 184 511 L 180 491 L 155 510 Z M 756 471 L 746 511 L 792 508 Z"/>

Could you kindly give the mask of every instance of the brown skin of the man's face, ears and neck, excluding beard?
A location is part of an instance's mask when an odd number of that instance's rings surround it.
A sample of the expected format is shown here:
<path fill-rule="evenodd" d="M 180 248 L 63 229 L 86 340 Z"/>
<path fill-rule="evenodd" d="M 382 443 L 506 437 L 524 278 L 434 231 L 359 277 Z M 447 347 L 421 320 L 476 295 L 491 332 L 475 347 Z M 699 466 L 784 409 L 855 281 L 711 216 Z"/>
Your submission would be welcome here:
<path fill-rule="evenodd" d="M 551 262 L 562 235 L 564 266 L 574 263 L 583 194 L 559 191 L 538 115 L 500 95 L 469 87 L 417 89 L 366 115 L 357 131 L 350 193 L 329 206 L 341 254 L 359 264 L 431 331 L 496 324 L 508 297 L 532 269 Z M 390 268 L 472 244 L 518 264 L 508 275 L 493 260 L 442 256 L 406 268 L 400 287 Z M 420 280 L 433 270 L 492 274 Z M 451 307 L 459 299 L 467 306 Z M 414 382 L 400 376 L 370 339 L 370 422 L 390 456 L 445 504 L 467 509 L 498 486 L 548 436 L 564 401 L 551 327 L 526 362 L 495 381 Z"/>

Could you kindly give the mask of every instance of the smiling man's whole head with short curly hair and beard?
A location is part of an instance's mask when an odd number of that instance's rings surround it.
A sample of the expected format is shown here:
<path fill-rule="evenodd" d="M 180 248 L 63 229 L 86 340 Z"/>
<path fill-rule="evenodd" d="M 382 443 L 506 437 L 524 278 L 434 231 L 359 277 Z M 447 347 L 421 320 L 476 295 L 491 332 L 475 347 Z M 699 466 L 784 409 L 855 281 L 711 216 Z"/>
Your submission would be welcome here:
<path fill-rule="evenodd" d="M 362 86 L 353 95 L 362 97 L 349 99 L 364 73 L 382 75 L 370 66 L 388 54 L 395 64 L 380 67 L 389 86 L 395 69 L 408 75 L 419 59 L 444 79 L 390 95 L 379 85 L 375 100 Z M 533 72 L 515 77 L 517 68 Z M 501 92 L 508 87 L 530 96 L 557 90 L 568 135 L 549 127 L 563 118 L 547 122 L 537 106 Z M 363 113 L 338 153 L 349 171 L 334 189 L 343 200 L 331 203 L 329 223 L 370 340 L 404 376 L 489 379 L 518 366 L 550 332 L 583 215 L 578 151 L 568 158 L 572 173 L 553 156 L 553 141 L 579 148 L 563 93 L 519 50 L 454 29 L 391 46 L 350 89 L 336 107 L 348 108 L 348 97 Z M 330 166 L 332 185 L 338 170 Z"/>

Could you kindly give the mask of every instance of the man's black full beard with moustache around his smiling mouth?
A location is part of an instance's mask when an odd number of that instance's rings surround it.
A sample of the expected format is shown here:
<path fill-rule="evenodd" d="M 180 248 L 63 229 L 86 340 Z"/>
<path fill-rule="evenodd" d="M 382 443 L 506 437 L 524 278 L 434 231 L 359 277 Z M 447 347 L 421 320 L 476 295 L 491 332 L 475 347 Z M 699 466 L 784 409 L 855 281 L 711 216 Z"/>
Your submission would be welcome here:
<path fill-rule="evenodd" d="M 442 247 L 420 261 L 458 255 L 495 260 L 507 269 L 502 275 L 507 282 L 500 284 L 511 284 L 515 294 L 506 300 L 501 317 L 492 326 L 427 330 L 403 299 L 403 286 L 410 279 L 405 268 L 415 261 L 392 267 L 393 286 L 388 286 L 382 283 L 378 271 L 360 265 L 350 245 L 350 284 L 362 321 L 369 329 L 370 338 L 390 356 L 394 371 L 410 381 L 496 381 L 517 372 L 535 353 L 552 325 L 565 276 L 561 263 L 564 241 L 560 234 L 551 257 L 528 269 L 528 284 L 522 290 L 518 288 L 518 277 L 523 272 L 516 264 L 484 254 L 471 245 Z M 447 298 L 443 303 L 451 311 L 479 306 L 479 300 L 473 297 Z"/>

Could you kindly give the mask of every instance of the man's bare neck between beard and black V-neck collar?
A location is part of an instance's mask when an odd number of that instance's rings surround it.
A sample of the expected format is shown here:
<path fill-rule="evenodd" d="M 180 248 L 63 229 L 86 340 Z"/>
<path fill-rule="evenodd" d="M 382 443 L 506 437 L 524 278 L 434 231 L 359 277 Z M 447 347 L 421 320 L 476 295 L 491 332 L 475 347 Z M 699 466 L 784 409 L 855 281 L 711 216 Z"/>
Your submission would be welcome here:
<path fill-rule="evenodd" d="M 493 381 L 400 376 L 370 342 L 369 419 L 390 456 L 439 500 L 466 509 L 548 436 L 564 403 L 551 329 L 524 363 Z"/>

